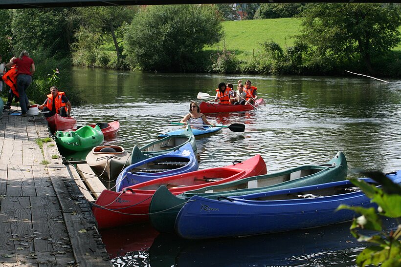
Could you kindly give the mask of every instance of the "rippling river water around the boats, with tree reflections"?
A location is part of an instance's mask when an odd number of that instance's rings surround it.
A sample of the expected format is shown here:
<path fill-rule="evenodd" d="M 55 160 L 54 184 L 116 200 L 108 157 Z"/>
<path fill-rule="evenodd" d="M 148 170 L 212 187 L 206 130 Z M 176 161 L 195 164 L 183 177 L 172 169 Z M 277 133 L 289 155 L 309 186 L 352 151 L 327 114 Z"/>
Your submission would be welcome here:
<path fill-rule="evenodd" d="M 71 86 L 87 103 L 74 105 L 78 125 L 119 120 L 106 144 L 131 151 L 188 113 L 198 92 L 214 95 L 219 82 L 249 79 L 266 106 L 255 111 L 210 114 L 211 123 L 244 123 L 245 132 L 227 128 L 197 141 L 200 168 L 231 164 L 260 154 L 267 171 L 322 164 L 343 151 L 351 170 L 401 169 L 401 81 L 388 83 L 352 76 L 245 76 L 141 73 L 72 69 Z M 235 86 L 236 87 L 236 86 Z M 68 90 L 66 91 L 68 96 Z M 85 159 L 85 154 L 67 155 Z M 387 222 L 395 227 L 394 222 Z M 158 235 L 149 225 L 102 231 L 115 266 L 354 266 L 363 249 L 349 223 L 256 237 L 189 242 Z M 127 265 L 126 265 L 127 266 Z"/>

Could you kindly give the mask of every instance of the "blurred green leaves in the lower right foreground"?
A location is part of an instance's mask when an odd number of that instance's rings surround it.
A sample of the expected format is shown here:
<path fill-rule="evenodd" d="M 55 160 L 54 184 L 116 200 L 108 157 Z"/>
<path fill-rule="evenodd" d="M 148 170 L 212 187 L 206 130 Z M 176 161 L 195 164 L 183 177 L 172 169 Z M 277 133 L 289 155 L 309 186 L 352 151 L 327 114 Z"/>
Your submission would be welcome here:
<path fill-rule="evenodd" d="M 364 181 L 356 179 L 352 183 L 362 189 L 371 198 L 371 201 L 379 205 L 379 215 L 401 219 L 401 186 L 394 184 L 390 179 L 379 172 L 364 173 L 382 185 L 377 188 Z M 359 242 L 368 242 L 374 246 L 366 247 L 357 257 L 356 264 L 364 267 L 368 265 L 381 265 L 382 267 L 401 266 L 401 224 L 396 231 L 388 233 L 383 229 L 380 217 L 374 208 L 360 206 L 340 205 L 337 210 L 350 209 L 361 216 L 354 219 L 350 229 Z M 373 230 L 379 232 L 373 236 L 361 234 L 358 229 Z"/>

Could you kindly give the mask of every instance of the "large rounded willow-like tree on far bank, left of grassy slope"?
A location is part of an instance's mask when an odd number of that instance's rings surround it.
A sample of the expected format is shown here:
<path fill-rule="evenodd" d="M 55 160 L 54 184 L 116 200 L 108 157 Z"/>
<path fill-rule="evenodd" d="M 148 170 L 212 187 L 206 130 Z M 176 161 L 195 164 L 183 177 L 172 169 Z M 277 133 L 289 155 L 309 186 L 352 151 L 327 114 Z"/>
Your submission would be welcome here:
<path fill-rule="evenodd" d="M 127 60 L 143 70 L 195 71 L 203 47 L 221 37 L 213 5 L 148 6 L 127 27 Z"/>

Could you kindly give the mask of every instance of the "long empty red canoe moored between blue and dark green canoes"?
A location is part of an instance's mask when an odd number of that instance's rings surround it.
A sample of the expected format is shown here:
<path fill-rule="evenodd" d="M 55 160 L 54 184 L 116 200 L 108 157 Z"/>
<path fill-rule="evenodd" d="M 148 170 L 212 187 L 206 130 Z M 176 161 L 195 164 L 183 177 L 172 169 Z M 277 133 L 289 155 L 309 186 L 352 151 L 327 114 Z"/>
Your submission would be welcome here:
<path fill-rule="evenodd" d="M 160 185 L 167 186 L 172 194 L 178 195 L 266 173 L 265 161 L 256 155 L 241 163 L 158 178 L 126 187 L 120 192 L 103 190 L 92 211 L 99 229 L 145 222 L 149 220 L 147 213 L 152 196 Z"/>

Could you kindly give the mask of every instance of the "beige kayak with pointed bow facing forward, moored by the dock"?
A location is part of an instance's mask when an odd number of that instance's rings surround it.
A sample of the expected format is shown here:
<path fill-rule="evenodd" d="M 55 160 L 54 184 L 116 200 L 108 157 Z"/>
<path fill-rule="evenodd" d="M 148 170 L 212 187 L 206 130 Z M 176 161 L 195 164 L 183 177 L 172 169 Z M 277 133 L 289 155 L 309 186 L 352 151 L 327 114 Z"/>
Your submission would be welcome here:
<path fill-rule="evenodd" d="M 111 149 L 114 151 L 110 151 Z M 86 162 L 96 175 L 111 181 L 116 179 L 124 166 L 130 162 L 130 155 L 122 146 L 100 145 L 92 148 Z"/>

